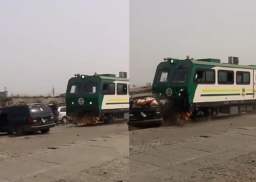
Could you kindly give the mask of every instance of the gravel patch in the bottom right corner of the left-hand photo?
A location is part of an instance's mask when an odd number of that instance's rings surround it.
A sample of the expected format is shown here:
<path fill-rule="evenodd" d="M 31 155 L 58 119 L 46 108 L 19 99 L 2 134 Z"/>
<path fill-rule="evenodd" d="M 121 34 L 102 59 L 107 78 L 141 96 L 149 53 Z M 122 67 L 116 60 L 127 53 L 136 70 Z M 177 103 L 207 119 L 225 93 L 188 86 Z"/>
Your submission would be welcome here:
<path fill-rule="evenodd" d="M 55 182 L 128 182 L 129 158 L 121 157 Z"/>

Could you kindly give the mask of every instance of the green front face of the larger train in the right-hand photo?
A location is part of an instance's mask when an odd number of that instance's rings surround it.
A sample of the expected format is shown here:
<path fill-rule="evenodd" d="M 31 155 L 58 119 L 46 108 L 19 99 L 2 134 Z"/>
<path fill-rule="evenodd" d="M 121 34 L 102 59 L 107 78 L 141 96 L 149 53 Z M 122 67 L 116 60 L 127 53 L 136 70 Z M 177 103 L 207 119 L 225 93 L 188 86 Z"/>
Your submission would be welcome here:
<path fill-rule="evenodd" d="M 189 112 L 188 85 L 191 80 L 190 60 L 169 59 L 161 62 L 156 69 L 152 90 L 160 100 L 163 114 Z"/>

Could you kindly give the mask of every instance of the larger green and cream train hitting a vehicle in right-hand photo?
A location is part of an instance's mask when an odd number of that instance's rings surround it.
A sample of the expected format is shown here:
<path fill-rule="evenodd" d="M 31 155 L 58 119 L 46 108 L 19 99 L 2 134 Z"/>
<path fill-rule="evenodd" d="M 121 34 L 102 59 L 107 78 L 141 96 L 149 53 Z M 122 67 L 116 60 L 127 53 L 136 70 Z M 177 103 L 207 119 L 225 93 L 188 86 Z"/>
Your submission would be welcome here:
<path fill-rule="evenodd" d="M 227 63 L 164 58 L 156 68 L 152 91 L 165 114 L 176 113 L 187 121 L 255 111 L 256 66 L 230 58 Z"/>

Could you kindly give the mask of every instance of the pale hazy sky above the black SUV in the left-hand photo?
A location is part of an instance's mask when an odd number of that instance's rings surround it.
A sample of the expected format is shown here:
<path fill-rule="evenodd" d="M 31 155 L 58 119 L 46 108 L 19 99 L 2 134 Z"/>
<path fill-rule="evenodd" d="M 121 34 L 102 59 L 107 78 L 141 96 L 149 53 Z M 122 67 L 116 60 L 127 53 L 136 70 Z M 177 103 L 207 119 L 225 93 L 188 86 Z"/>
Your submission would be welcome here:
<path fill-rule="evenodd" d="M 128 0 L 0 0 L 0 91 L 66 91 L 75 73 L 129 71 Z"/>

